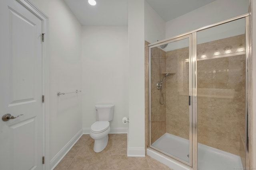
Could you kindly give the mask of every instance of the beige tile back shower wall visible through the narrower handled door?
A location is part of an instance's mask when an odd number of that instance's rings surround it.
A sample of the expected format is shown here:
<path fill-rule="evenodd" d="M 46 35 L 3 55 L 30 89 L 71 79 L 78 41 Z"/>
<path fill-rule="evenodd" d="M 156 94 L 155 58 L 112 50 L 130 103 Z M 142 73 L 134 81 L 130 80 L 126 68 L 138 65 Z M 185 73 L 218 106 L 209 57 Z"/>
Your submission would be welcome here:
<path fill-rule="evenodd" d="M 188 47 L 166 53 L 166 132 L 189 139 Z"/>

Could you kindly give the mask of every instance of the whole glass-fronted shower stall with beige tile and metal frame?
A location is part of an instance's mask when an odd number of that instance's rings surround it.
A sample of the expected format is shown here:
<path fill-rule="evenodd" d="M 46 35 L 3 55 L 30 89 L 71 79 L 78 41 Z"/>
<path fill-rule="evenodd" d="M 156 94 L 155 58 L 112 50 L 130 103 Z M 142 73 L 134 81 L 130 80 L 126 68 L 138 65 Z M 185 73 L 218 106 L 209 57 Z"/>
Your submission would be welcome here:
<path fill-rule="evenodd" d="M 148 45 L 150 152 L 194 170 L 248 167 L 248 20 Z"/>

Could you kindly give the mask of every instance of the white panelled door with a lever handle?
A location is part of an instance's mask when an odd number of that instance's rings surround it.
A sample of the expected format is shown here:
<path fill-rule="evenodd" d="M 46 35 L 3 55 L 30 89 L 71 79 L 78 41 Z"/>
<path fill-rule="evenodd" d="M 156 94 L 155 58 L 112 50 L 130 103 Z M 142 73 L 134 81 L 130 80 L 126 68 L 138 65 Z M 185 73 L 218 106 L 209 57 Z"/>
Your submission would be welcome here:
<path fill-rule="evenodd" d="M 42 21 L 0 0 L 0 170 L 42 170 Z M 4 114 L 20 117 L 2 121 Z"/>

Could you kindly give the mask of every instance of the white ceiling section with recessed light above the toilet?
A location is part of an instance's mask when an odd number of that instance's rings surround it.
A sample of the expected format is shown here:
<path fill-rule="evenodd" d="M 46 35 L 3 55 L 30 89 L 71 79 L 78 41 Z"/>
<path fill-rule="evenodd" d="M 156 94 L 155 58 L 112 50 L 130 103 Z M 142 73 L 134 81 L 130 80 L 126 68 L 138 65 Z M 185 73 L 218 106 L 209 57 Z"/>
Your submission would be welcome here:
<path fill-rule="evenodd" d="M 128 0 L 64 0 L 82 25 L 117 26 L 128 25 Z"/>

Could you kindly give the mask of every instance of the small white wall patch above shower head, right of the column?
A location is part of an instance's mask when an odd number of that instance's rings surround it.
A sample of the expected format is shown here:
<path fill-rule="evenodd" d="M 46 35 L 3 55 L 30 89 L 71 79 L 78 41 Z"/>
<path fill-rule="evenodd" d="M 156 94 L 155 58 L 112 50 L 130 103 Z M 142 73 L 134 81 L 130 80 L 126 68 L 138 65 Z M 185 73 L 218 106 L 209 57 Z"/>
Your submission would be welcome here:
<path fill-rule="evenodd" d="M 154 43 L 165 39 L 165 21 L 146 1 L 144 5 L 145 40 Z"/>

